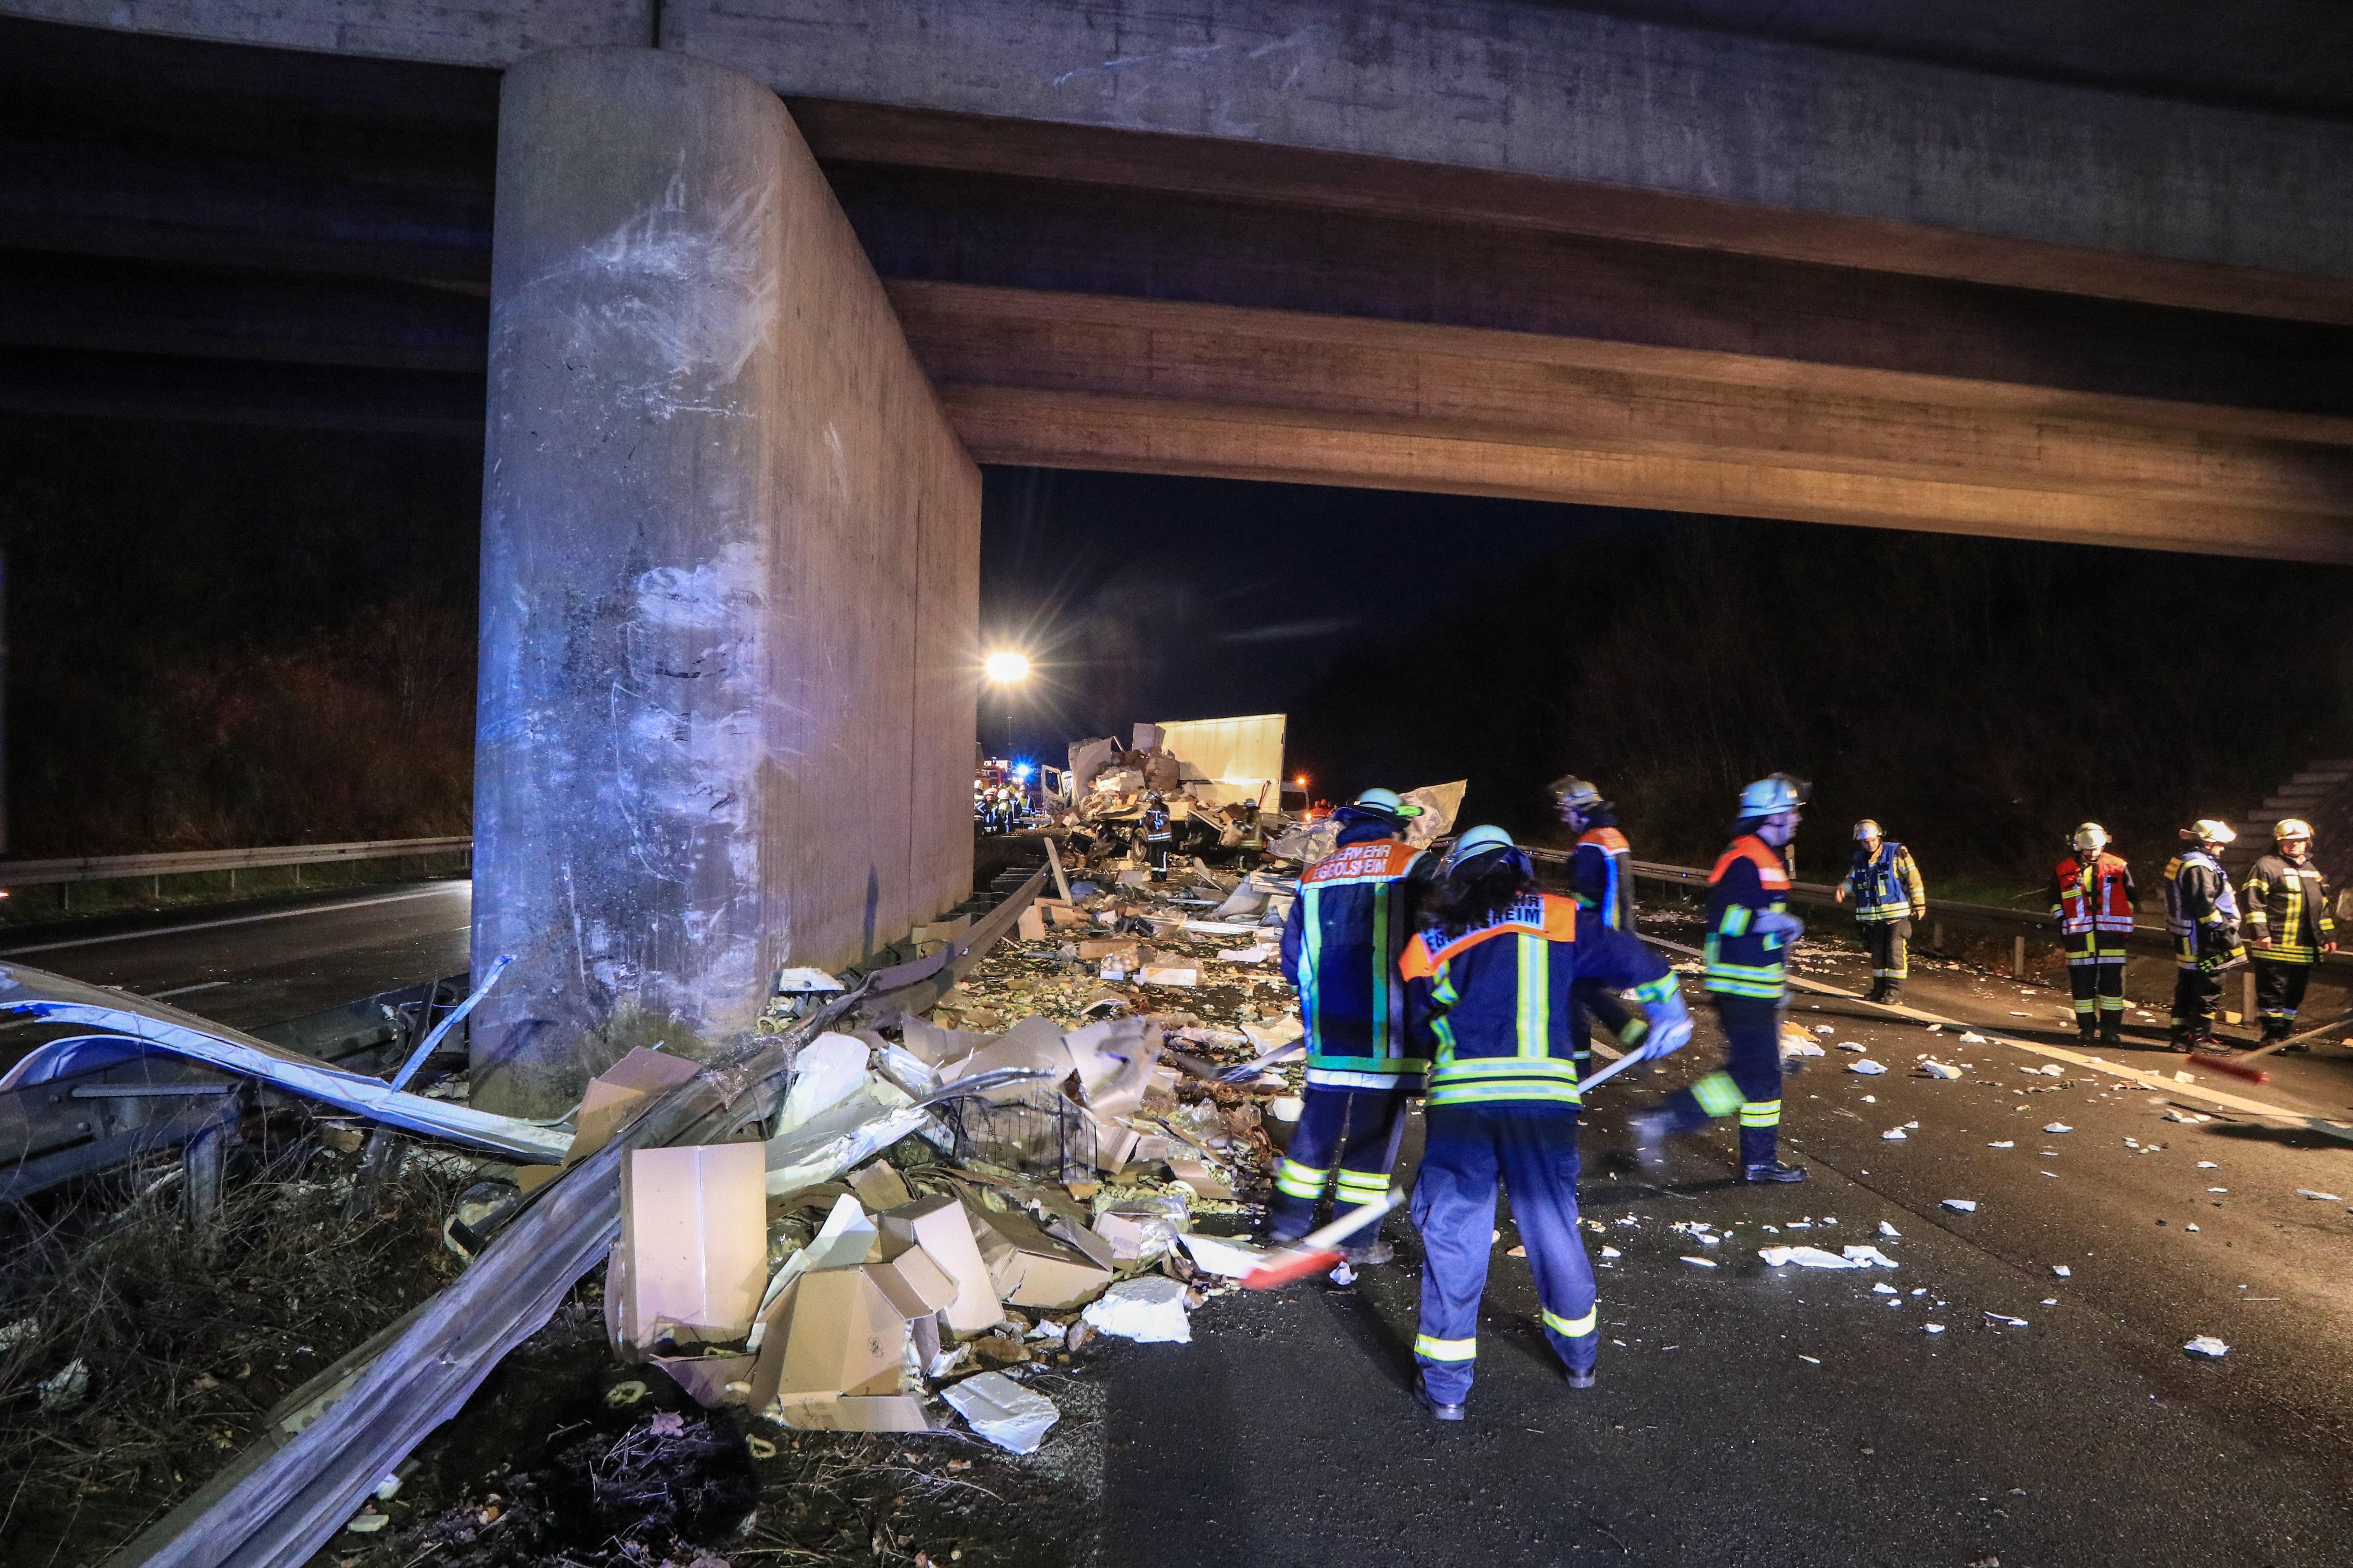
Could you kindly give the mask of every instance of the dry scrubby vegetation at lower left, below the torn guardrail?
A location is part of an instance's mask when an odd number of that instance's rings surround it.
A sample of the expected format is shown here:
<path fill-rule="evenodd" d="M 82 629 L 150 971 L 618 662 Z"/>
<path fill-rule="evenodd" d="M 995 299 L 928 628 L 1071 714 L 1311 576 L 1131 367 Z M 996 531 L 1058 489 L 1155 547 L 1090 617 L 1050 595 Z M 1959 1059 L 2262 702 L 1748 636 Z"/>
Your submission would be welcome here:
<path fill-rule="evenodd" d="M 456 1262 L 440 1244 L 449 1161 L 407 1161 L 358 1220 L 353 1161 L 308 1138 L 235 1166 L 214 1246 L 176 1164 L 0 1213 L 7 1568 L 104 1561 Z"/>

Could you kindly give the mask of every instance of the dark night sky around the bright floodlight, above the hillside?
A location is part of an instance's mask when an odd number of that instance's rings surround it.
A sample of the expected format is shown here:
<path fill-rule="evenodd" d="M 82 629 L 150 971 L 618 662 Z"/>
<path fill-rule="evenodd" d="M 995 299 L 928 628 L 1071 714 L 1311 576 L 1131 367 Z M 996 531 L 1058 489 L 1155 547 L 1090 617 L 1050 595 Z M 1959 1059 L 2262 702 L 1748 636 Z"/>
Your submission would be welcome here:
<path fill-rule="evenodd" d="M 1038 665 L 1026 755 L 1136 722 L 1287 712 L 1344 651 L 1659 512 L 1242 480 L 988 468 L 984 646 Z M 981 698 L 1002 750 L 1005 698 Z"/>

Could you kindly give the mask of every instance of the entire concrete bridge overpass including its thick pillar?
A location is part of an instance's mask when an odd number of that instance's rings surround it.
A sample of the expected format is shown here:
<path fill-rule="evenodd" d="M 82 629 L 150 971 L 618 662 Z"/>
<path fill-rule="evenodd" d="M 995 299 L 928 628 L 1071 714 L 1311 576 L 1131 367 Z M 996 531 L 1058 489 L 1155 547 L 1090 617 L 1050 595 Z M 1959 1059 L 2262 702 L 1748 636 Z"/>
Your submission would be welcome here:
<path fill-rule="evenodd" d="M 2353 559 L 2318 0 L 0 12 L 0 400 L 487 428 L 492 1100 L 960 891 L 974 461 Z"/>

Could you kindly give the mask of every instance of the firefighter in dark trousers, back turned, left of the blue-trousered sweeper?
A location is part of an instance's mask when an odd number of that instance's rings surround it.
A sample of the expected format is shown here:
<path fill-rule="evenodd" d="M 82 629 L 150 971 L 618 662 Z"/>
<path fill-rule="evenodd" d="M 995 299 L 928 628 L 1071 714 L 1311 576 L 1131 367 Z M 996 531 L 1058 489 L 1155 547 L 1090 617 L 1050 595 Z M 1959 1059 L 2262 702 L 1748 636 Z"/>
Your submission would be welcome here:
<path fill-rule="evenodd" d="M 1332 813 L 1339 846 L 1299 875 L 1282 922 L 1282 976 L 1299 992 L 1308 1032 L 1306 1105 L 1275 1168 L 1268 1222 L 1275 1244 L 1315 1225 L 1332 1190 L 1337 1208 L 1388 1194 L 1405 1135 L 1405 1098 L 1421 1091 L 1428 1060 L 1407 1044 L 1398 959 L 1414 933 L 1428 856 L 1405 844 L 1421 816 L 1395 790 L 1365 790 Z M 1388 1262 L 1379 1234 L 1358 1234 L 1351 1262 Z"/>

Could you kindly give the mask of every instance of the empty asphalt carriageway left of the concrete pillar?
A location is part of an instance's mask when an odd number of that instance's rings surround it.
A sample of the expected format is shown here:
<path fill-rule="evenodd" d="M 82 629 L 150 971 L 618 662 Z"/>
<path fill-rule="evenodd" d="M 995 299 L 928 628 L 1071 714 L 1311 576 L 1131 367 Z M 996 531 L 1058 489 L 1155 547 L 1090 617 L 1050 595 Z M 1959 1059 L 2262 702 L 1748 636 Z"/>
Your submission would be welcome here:
<path fill-rule="evenodd" d="M 231 1027 L 301 1018 L 466 971 L 471 882 L 376 884 L 271 905 L 169 910 L 9 933 L 19 959 Z"/>

